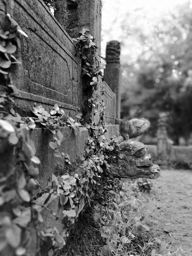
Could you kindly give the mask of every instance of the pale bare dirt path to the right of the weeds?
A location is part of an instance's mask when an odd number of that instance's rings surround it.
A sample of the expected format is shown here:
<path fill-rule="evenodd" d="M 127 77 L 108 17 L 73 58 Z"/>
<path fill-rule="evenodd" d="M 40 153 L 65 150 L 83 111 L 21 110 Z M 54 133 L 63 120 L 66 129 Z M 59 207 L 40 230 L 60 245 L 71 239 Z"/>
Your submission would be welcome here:
<path fill-rule="evenodd" d="M 181 247 L 178 252 L 192 256 L 192 170 L 161 170 L 152 184 L 156 209 L 150 221 L 156 236 L 170 243 L 170 252 Z"/>

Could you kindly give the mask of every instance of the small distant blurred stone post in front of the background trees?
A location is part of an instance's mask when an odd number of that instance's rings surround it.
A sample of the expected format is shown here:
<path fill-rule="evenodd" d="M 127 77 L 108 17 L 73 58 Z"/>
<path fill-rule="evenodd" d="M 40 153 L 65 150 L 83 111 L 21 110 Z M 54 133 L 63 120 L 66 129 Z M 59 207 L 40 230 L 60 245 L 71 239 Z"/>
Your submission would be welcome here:
<path fill-rule="evenodd" d="M 165 161 L 167 159 L 167 115 L 159 115 L 159 124 L 157 130 L 157 153 L 158 159 Z"/>

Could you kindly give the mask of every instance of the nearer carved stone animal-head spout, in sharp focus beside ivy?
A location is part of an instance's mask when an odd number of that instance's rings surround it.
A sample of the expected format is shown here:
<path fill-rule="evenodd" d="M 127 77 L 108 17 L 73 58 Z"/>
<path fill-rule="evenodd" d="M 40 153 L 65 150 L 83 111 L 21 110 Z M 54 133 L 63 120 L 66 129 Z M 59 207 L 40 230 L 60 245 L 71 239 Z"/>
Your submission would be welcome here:
<path fill-rule="evenodd" d="M 111 162 L 109 172 L 120 178 L 149 178 L 160 176 L 159 165 L 153 164 L 145 145 L 137 141 L 124 141 L 120 144 L 116 162 Z"/>

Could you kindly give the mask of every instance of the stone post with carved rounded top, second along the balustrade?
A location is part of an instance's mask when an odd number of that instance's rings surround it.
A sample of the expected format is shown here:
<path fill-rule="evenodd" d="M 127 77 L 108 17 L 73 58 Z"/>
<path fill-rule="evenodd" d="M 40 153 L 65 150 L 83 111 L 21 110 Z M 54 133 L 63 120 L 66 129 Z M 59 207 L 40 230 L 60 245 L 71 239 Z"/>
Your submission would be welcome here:
<path fill-rule="evenodd" d="M 107 43 L 106 67 L 104 70 L 104 81 L 116 94 L 117 119 L 120 119 L 121 108 L 121 65 L 120 65 L 120 43 L 116 40 Z"/>

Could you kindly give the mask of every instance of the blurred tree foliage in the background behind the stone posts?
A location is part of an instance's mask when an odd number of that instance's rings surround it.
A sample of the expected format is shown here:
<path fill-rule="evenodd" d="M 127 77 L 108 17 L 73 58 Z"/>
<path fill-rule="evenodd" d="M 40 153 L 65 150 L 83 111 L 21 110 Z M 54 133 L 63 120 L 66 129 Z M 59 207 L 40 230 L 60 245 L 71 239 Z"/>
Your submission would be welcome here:
<path fill-rule="evenodd" d="M 123 50 L 121 117 L 149 119 L 149 132 L 155 137 L 159 113 L 165 112 L 171 139 L 179 144 L 183 137 L 188 144 L 192 132 L 191 2 L 159 16 L 144 7 L 127 9 L 117 20 L 112 36 Z M 110 32 L 104 29 L 103 37 L 106 33 Z"/>

